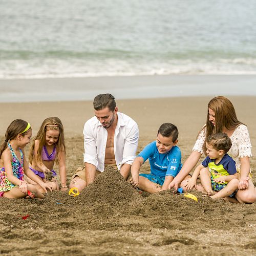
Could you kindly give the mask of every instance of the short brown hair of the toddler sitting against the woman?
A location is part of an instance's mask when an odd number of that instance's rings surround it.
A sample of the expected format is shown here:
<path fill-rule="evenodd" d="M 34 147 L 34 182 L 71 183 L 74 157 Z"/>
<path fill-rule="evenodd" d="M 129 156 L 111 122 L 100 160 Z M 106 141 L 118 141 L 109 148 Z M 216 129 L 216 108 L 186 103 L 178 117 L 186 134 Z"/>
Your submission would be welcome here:
<path fill-rule="evenodd" d="M 216 150 L 223 150 L 227 153 L 232 146 L 230 138 L 225 133 L 215 133 L 208 136 L 206 142 Z"/>

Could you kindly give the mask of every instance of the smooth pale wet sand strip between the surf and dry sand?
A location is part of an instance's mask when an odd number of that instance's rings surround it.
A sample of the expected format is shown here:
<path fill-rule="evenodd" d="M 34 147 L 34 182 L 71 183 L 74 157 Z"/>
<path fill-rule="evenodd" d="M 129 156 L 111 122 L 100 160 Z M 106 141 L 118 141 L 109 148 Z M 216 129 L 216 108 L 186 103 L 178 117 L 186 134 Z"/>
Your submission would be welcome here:
<path fill-rule="evenodd" d="M 144 75 L 42 79 L 0 79 L 0 102 L 93 100 L 205 95 L 256 96 L 256 75 Z"/>

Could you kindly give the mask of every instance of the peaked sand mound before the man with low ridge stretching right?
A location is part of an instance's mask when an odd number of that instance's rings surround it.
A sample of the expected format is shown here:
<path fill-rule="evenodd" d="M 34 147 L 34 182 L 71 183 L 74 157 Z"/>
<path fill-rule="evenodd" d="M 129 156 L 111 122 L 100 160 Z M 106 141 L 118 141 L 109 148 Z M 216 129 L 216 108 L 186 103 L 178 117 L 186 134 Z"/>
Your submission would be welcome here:
<path fill-rule="evenodd" d="M 234 217 L 232 210 L 233 207 L 240 208 L 240 205 L 235 206 L 223 200 L 212 200 L 198 191 L 190 193 L 197 196 L 198 202 L 180 194 L 173 194 L 172 191 L 162 191 L 142 197 L 115 168 L 109 166 L 82 191 L 78 197 L 79 200 L 77 198 L 74 202 L 76 201 L 76 207 L 78 207 L 78 201 L 80 202 L 79 208 L 83 214 L 94 214 L 101 218 L 114 216 L 156 218 L 156 223 L 151 223 L 148 226 L 149 229 L 170 228 L 174 225 L 182 229 L 190 221 L 204 223 L 204 226 L 210 227 L 212 223 L 209 220 L 212 219 L 212 215 L 222 216 L 220 220 L 222 225 L 241 220 L 241 215 Z M 173 221 L 166 222 L 166 218 Z"/>

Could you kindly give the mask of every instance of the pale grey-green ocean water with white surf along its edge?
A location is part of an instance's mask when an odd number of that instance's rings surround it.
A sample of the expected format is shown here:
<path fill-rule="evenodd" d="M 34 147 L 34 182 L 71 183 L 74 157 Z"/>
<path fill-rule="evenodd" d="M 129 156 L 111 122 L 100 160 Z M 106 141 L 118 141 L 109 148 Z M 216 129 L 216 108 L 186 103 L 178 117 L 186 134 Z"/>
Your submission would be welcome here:
<path fill-rule="evenodd" d="M 0 79 L 256 74 L 254 0 L 0 0 Z"/>

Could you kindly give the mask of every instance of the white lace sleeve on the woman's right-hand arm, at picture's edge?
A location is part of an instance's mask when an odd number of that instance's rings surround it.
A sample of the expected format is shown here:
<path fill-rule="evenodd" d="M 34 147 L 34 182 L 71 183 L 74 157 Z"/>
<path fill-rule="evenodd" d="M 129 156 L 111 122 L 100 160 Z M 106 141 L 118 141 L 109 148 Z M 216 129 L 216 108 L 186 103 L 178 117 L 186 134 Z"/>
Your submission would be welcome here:
<path fill-rule="evenodd" d="M 251 141 L 249 132 L 246 125 L 239 125 L 237 127 L 237 136 L 236 140 L 238 142 L 238 151 L 239 151 L 239 158 L 240 157 L 252 157 L 251 154 Z"/>

